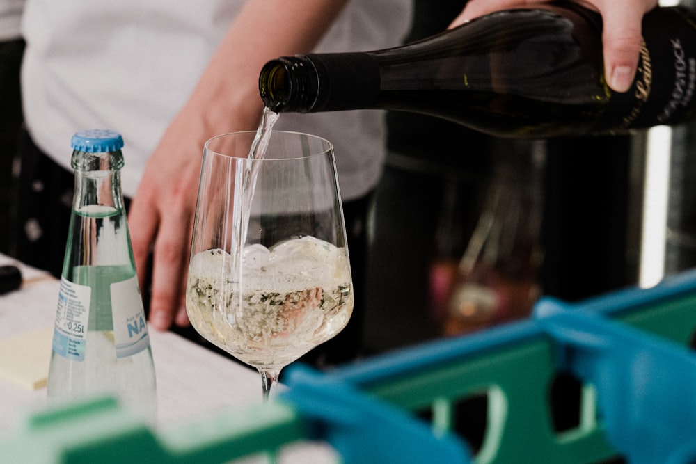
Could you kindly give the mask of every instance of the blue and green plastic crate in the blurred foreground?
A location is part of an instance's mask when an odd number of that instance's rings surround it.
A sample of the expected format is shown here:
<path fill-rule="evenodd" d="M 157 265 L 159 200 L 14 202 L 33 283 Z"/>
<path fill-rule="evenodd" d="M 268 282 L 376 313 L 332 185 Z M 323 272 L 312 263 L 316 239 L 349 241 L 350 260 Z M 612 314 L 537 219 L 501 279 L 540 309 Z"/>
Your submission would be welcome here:
<path fill-rule="evenodd" d="M 3 462 L 222 463 L 326 440 L 352 463 L 696 462 L 696 273 L 577 304 L 546 298 L 532 319 L 322 374 L 288 369 L 277 401 L 155 432 L 112 400 L 29 417 L 0 439 Z M 548 392 L 585 383 L 580 421 L 555 431 Z M 487 397 L 475 456 L 454 433 L 457 403 Z M 427 410 L 430 422 L 416 418 Z M 79 432 L 79 433 L 78 433 Z M 79 437 L 79 438 L 76 438 Z M 122 445 L 122 446 L 121 446 Z"/>

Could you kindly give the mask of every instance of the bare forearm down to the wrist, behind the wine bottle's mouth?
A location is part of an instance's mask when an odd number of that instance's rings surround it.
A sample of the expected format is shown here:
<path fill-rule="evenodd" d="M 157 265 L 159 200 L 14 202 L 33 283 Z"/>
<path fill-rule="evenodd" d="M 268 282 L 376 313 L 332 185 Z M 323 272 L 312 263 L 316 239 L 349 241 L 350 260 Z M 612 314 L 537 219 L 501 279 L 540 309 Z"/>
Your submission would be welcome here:
<path fill-rule="evenodd" d="M 311 51 L 347 0 L 249 0 L 232 22 L 185 112 L 210 134 L 255 129 L 262 110 L 258 73 L 271 58 Z"/>

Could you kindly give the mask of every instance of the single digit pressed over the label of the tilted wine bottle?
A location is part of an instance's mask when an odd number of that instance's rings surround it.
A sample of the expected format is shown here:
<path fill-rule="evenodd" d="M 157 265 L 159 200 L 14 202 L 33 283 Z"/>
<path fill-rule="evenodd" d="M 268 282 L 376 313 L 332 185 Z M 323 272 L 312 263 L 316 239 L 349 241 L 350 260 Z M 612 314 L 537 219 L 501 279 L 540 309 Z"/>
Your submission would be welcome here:
<path fill-rule="evenodd" d="M 635 0 L 607 0 L 598 7 L 603 20 L 607 83 L 617 92 L 626 92 L 638 66 L 642 17 L 647 6 L 638 8 Z"/>

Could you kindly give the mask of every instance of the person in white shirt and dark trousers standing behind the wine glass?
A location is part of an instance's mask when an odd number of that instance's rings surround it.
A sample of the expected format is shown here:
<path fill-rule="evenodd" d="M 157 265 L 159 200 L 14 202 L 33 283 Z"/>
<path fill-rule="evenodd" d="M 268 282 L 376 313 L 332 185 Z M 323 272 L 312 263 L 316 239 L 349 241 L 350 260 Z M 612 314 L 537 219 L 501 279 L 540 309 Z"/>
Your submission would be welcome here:
<path fill-rule="evenodd" d="M 410 13 L 410 0 L 27 0 L 19 257 L 41 267 L 52 259 L 60 273 L 72 198 L 70 137 L 92 127 L 119 131 L 143 292 L 153 259 L 150 322 L 162 330 L 186 326 L 183 296 L 205 141 L 257 127 L 258 75 L 269 59 L 397 45 Z M 349 341 L 337 346 L 354 356 L 365 221 L 385 153 L 383 113 L 283 115 L 276 128 L 334 145 L 358 298 L 344 330 Z"/>

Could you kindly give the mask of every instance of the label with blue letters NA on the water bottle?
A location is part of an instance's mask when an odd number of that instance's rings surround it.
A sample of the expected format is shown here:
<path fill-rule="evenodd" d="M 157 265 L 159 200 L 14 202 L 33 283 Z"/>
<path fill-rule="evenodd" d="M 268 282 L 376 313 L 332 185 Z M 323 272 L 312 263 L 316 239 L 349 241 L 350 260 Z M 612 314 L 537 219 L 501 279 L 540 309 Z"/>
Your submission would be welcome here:
<path fill-rule="evenodd" d="M 127 358 L 150 346 L 143 299 L 136 276 L 111 284 L 111 314 L 116 357 Z"/>

